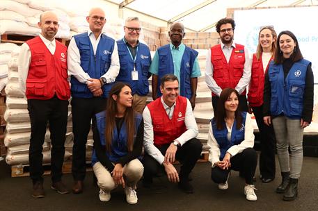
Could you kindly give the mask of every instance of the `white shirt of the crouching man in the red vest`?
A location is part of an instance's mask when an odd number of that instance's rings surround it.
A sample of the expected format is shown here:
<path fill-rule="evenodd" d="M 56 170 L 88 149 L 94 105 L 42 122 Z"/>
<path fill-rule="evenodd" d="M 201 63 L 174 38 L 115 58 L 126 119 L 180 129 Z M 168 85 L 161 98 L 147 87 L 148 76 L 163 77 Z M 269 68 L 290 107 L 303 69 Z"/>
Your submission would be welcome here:
<path fill-rule="evenodd" d="M 173 111 L 175 110 L 175 104 L 171 108 L 164 103 L 161 97 L 161 103 L 164 105 L 168 117 L 171 119 L 173 117 Z M 152 126 L 152 119 L 150 115 L 150 110 L 148 106 L 143 110 L 143 124 L 144 124 L 144 135 L 143 135 L 143 146 L 145 147 L 145 152 L 152 156 L 160 164 L 164 162 L 164 155 L 161 154 L 159 149 L 154 146 L 154 130 Z M 177 141 L 180 142 L 182 146 L 187 141 L 191 140 L 193 137 L 198 135 L 198 126 L 196 124 L 196 119 L 193 115 L 191 103 L 189 99 L 186 99 L 186 114 L 184 117 L 184 124 L 186 125 L 186 131 L 177 137 Z"/>

